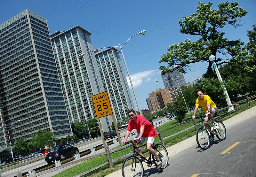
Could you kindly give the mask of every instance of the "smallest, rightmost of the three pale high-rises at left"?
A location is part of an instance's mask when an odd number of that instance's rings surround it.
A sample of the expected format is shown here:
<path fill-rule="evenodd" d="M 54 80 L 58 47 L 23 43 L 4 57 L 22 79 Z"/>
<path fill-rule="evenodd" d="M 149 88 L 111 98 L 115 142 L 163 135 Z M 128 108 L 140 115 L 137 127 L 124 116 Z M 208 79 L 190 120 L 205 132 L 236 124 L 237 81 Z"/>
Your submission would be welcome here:
<path fill-rule="evenodd" d="M 111 48 L 104 51 L 95 51 L 94 53 L 104 90 L 108 90 L 116 121 L 121 123 L 127 117 L 129 109 L 134 109 L 134 103 L 119 52 L 115 48 Z M 112 120 L 109 124 L 111 126 Z"/>

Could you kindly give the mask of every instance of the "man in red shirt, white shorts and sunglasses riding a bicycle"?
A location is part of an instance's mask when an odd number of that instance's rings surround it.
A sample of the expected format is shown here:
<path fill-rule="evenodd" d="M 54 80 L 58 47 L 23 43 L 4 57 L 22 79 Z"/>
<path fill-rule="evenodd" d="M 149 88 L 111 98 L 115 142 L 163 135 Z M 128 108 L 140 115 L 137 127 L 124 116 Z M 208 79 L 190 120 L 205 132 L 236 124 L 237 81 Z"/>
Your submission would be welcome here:
<path fill-rule="evenodd" d="M 144 141 L 147 142 L 146 149 L 156 158 L 157 165 L 156 167 L 159 169 L 162 166 L 162 163 L 159 157 L 156 154 L 156 151 L 152 148 L 152 144 L 154 143 L 154 138 L 157 136 L 156 130 L 154 126 L 142 115 L 136 114 L 133 109 L 128 111 L 128 116 L 130 118 L 127 131 L 124 137 L 123 144 L 127 142 L 127 138 L 129 137 L 131 131 L 133 129 L 137 130 L 138 135 L 134 138 L 136 140 L 135 147 L 138 147 L 138 144 L 143 144 Z M 136 149 L 139 154 L 142 154 L 141 149 Z M 141 161 L 146 160 L 145 157 L 140 158 Z"/>

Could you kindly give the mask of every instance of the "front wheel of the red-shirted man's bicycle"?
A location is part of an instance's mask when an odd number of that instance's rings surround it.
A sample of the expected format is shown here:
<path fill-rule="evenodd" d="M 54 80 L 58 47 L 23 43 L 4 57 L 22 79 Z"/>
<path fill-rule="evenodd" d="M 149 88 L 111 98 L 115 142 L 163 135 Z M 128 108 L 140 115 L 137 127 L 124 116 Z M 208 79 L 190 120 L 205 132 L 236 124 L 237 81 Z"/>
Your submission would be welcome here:
<path fill-rule="evenodd" d="M 144 168 L 139 158 L 135 158 L 134 156 L 129 156 L 124 159 L 122 165 L 122 175 L 123 177 L 142 177 L 144 172 Z"/>

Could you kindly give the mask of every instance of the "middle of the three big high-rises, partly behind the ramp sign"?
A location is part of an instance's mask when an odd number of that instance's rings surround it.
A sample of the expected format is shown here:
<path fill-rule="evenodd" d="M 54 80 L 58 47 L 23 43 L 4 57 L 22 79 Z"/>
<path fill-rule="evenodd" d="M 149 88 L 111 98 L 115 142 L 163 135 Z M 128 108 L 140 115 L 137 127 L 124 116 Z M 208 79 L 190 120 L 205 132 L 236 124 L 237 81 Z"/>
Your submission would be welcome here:
<path fill-rule="evenodd" d="M 71 123 L 96 119 L 92 95 L 104 91 L 96 58 L 92 50 L 91 33 L 80 26 L 51 35 L 55 62 L 60 77 L 68 118 Z M 86 53 L 88 52 L 88 53 Z M 78 56 L 86 53 L 84 57 Z M 100 118 L 103 131 L 108 131 Z"/>

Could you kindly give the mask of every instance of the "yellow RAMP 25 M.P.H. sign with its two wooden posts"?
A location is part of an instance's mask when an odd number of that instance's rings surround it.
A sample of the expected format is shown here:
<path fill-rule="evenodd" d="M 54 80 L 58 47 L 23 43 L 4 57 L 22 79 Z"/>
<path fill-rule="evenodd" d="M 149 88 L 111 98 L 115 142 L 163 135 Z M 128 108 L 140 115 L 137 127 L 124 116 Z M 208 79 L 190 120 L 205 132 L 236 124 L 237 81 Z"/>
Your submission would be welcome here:
<path fill-rule="evenodd" d="M 112 111 L 112 104 L 110 103 L 110 100 L 109 100 L 109 97 L 108 97 L 108 91 L 104 91 L 104 92 L 101 92 L 99 94 L 93 95 L 92 96 L 92 103 L 93 103 L 93 106 L 94 106 L 96 117 L 98 118 L 98 123 L 99 123 L 99 127 L 100 127 L 100 134 L 101 134 L 102 142 L 104 143 L 104 145 L 105 145 L 105 139 L 104 139 L 104 135 L 102 133 L 102 128 L 101 128 L 101 125 L 100 125 L 99 118 L 112 114 L 112 119 L 113 119 L 113 122 L 114 122 L 114 125 L 115 125 L 115 128 L 116 128 L 116 134 L 117 134 L 117 137 L 118 137 L 118 141 L 119 141 L 120 146 L 122 146 L 120 134 L 119 134 L 118 127 L 117 127 L 117 124 L 116 124 L 116 118 L 115 118 L 115 116 L 113 114 L 113 111 Z"/>

